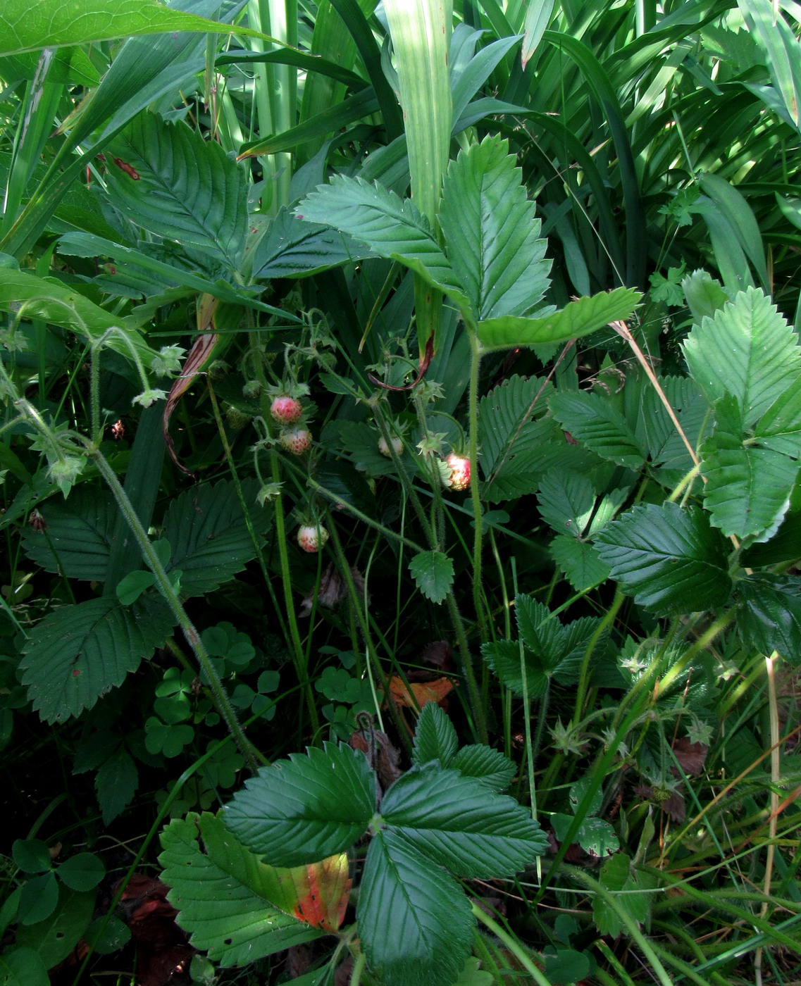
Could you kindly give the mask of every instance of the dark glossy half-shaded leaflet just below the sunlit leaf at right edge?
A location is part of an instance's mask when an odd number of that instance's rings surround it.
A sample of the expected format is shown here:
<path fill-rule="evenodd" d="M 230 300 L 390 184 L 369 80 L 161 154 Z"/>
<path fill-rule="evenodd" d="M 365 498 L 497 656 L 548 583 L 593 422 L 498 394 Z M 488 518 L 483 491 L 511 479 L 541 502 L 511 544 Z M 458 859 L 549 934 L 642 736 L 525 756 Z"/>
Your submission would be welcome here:
<path fill-rule="evenodd" d="M 596 548 L 622 590 L 660 615 L 722 605 L 731 591 L 725 541 L 698 510 L 634 507 L 601 531 Z"/>

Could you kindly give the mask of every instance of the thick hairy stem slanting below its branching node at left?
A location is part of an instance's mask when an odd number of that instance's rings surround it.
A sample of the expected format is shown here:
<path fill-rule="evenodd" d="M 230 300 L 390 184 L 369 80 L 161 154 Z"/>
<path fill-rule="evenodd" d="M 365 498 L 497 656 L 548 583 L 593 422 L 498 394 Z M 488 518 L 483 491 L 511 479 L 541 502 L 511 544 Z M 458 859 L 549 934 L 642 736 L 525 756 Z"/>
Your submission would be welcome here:
<path fill-rule="evenodd" d="M 219 712 L 221 719 L 228 728 L 228 732 L 233 737 L 240 752 L 245 757 L 245 762 L 248 764 L 249 769 L 255 773 L 258 769 L 258 760 L 262 763 L 266 763 L 266 760 L 255 750 L 253 743 L 248 740 L 243 732 L 240 721 L 237 717 L 234 707 L 231 704 L 231 700 L 223 687 L 223 683 L 220 680 L 217 671 L 214 669 L 214 665 L 206 652 L 205 646 L 200 639 L 200 634 L 194 628 L 191 620 L 189 619 L 186 610 L 183 608 L 181 599 L 178 598 L 170 577 L 164 569 L 159 556 L 153 549 L 153 544 L 150 538 L 147 536 L 145 528 L 136 515 L 136 511 L 131 506 L 130 500 L 128 500 L 127 494 L 122 489 L 122 484 L 116 477 L 116 473 L 109 465 L 106 457 L 98 449 L 89 449 L 90 456 L 94 459 L 98 466 L 98 471 L 106 480 L 111 493 L 113 494 L 114 500 L 119 507 L 122 516 L 128 527 L 131 529 L 131 533 L 136 538 L 136 543 L 139 545 L 139 549 L 142 552 L 142 557 L 147 562 L 148 567 L 153 572 L 156 578 L 156 584 L 159 587 L 159 591 L 162 596 L 167 600 L 167 604 L 173 610 L 173 615 L 176 617 L 177 622 L 181 626 L 183 631 L 183 636 L 186 638 L 186 643 L 192 650 L 197 663 L 203 670 L 203 673 L 208 678 L 209 691 L 211 692 L 211 698 L 214 702 L 214 707 L 217 712 Z"/>

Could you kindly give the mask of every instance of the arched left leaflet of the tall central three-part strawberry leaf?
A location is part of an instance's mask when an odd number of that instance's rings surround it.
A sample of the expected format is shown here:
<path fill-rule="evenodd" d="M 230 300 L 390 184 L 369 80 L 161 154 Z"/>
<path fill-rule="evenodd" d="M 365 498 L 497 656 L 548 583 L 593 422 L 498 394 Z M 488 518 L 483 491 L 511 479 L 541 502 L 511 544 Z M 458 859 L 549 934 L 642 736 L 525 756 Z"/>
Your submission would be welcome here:
<path fill-rule="evenodd" d="M 454 301 L 469 305 L 426 218 L 409 199 L 378 182 L 335 175 L 330 184 L 307 195 L 296 214 L 347 233 L 379 256 L 398 260 Z"/>

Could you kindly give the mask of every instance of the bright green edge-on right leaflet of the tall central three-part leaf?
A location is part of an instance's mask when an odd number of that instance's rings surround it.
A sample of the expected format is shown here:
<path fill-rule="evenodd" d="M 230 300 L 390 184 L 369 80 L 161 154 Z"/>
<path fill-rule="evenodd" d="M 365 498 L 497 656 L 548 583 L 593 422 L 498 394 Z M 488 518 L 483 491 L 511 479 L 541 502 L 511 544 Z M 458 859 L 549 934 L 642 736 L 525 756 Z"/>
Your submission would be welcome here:
<path fill-rule="evenodd" d="M 630 318 L 640 298 L 631 288 L 615 288 L 568 302 L 560 311 L 545 317 L 487 318 L 478 322 L 478 341 L 484 351 L 567 342 L 595 332 L 611 321 Z"/>

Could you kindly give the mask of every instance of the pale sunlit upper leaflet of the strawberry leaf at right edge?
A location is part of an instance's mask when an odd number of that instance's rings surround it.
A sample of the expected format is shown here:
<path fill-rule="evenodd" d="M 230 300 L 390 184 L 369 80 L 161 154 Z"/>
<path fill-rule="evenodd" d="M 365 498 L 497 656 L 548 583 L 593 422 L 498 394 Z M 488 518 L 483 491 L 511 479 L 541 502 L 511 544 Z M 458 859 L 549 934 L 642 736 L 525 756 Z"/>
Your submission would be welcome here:
<path fill-rule="evenodd" d="M 757 288 L 739 292 L 714 317 L 704 317 L 684 349 L 692 379 L 707 400 L 733 394 L 746 427 L 759 421 L 801 373 L 795 332 Z"/>

